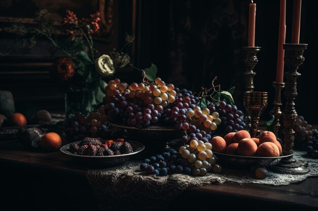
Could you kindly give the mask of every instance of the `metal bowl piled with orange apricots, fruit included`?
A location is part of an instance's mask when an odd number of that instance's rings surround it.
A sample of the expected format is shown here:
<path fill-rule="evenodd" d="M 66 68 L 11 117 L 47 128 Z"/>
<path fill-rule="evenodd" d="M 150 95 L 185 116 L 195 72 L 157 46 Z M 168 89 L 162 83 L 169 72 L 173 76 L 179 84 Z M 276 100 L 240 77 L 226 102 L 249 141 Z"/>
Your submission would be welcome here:
<path fill-rule="evenodd" d="M 282 155 L 281 143 L 269 131 L 264 131 L 258 138 L 251 138 L 247 131 L 242 130 L 224 137 L 215 136 L 210 143 L 217 162 L 228 168 L 266 167 L 293 155 Z"/>

